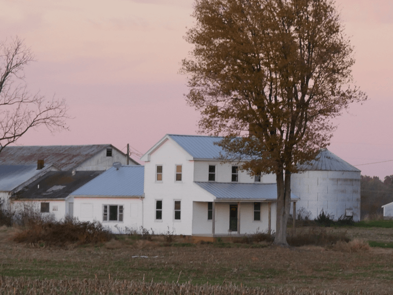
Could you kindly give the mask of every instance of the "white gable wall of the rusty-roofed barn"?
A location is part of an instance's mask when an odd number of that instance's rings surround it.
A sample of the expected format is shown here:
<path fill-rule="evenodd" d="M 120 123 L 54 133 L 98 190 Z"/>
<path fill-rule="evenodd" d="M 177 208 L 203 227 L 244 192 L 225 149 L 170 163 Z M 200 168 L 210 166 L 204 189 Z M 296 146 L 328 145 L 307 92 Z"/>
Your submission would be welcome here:
<path fill-rule="evenodd" d="M 75 168 L 77 171 L 103 171 L 112 167 L 114 162 L 120 162 L 122 165 L 127 164 L 127 157 L 118 152 L 117 149 L 112 148 L 112 156 L 107 157 L 107 149 L 102 151 L 84 161 L 81 165 Z M 135 162 L 130 159 L 130 165 L 135 165 Z"/>

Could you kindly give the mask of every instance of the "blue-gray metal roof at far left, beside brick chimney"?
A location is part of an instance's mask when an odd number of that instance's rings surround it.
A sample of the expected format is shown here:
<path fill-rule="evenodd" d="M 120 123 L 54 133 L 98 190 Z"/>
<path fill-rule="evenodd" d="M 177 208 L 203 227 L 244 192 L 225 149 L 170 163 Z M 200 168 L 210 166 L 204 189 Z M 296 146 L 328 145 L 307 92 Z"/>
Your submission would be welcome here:
<path fill-rule="evenodd" d="M 38 170 L 35 165 L 0 165 L 0 191 L 9 192 L 25 183 L 32 177 L 45 173 L 44 171 L 51 167 L 46 165 L 43 169 Z"/>

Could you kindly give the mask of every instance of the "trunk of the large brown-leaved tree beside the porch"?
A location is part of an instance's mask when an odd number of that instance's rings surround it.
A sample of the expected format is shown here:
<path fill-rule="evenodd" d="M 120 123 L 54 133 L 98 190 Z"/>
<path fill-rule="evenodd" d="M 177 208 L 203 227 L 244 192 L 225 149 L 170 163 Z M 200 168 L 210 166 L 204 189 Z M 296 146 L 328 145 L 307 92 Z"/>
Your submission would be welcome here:
<path fill-rule="evenodd" d="M 276 236 L 274 244 L 288 246 L 286 241 L 286 224 L 288 222 L 289 210 L 291 207 L 291 174 L 290 172 L 276 173 L 277 180 L 277 219 Z"/>

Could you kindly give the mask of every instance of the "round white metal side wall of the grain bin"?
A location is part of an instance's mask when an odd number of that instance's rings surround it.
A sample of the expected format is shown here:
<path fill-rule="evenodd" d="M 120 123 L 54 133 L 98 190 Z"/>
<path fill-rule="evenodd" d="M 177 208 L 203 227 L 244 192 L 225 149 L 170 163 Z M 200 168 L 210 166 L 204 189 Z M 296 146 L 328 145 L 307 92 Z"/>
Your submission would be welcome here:
<path fill-rule="evenodd" d="M 352 209 L 354 221 L 360 220 L 360 172 L 306 171 L 293 174 L 291 189 L 300 198 L 296 211 L 304 208 L 310 212 L 310 219 L 316 218 L 323 209 L 337 220 L 341 215 L 345 216 L 346 209 Z"/>

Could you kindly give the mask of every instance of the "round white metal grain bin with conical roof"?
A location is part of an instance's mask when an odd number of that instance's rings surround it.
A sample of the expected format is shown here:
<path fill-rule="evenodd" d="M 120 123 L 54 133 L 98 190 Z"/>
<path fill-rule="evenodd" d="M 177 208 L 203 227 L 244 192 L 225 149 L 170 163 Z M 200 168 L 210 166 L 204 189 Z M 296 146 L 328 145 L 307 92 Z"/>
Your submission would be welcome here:
<path fill-rule="evenodd" d="M 310 219 L 323 210 L 334 215 L 353 216 L 360 220 L 360 173 L 361 171 L 337 157 L 329 150 L 321 149 L 315 160 L 300 166 L 304 173 L 292 174 L 292 193 L 300 198 L 296 208 L 310 212 Z"/>

